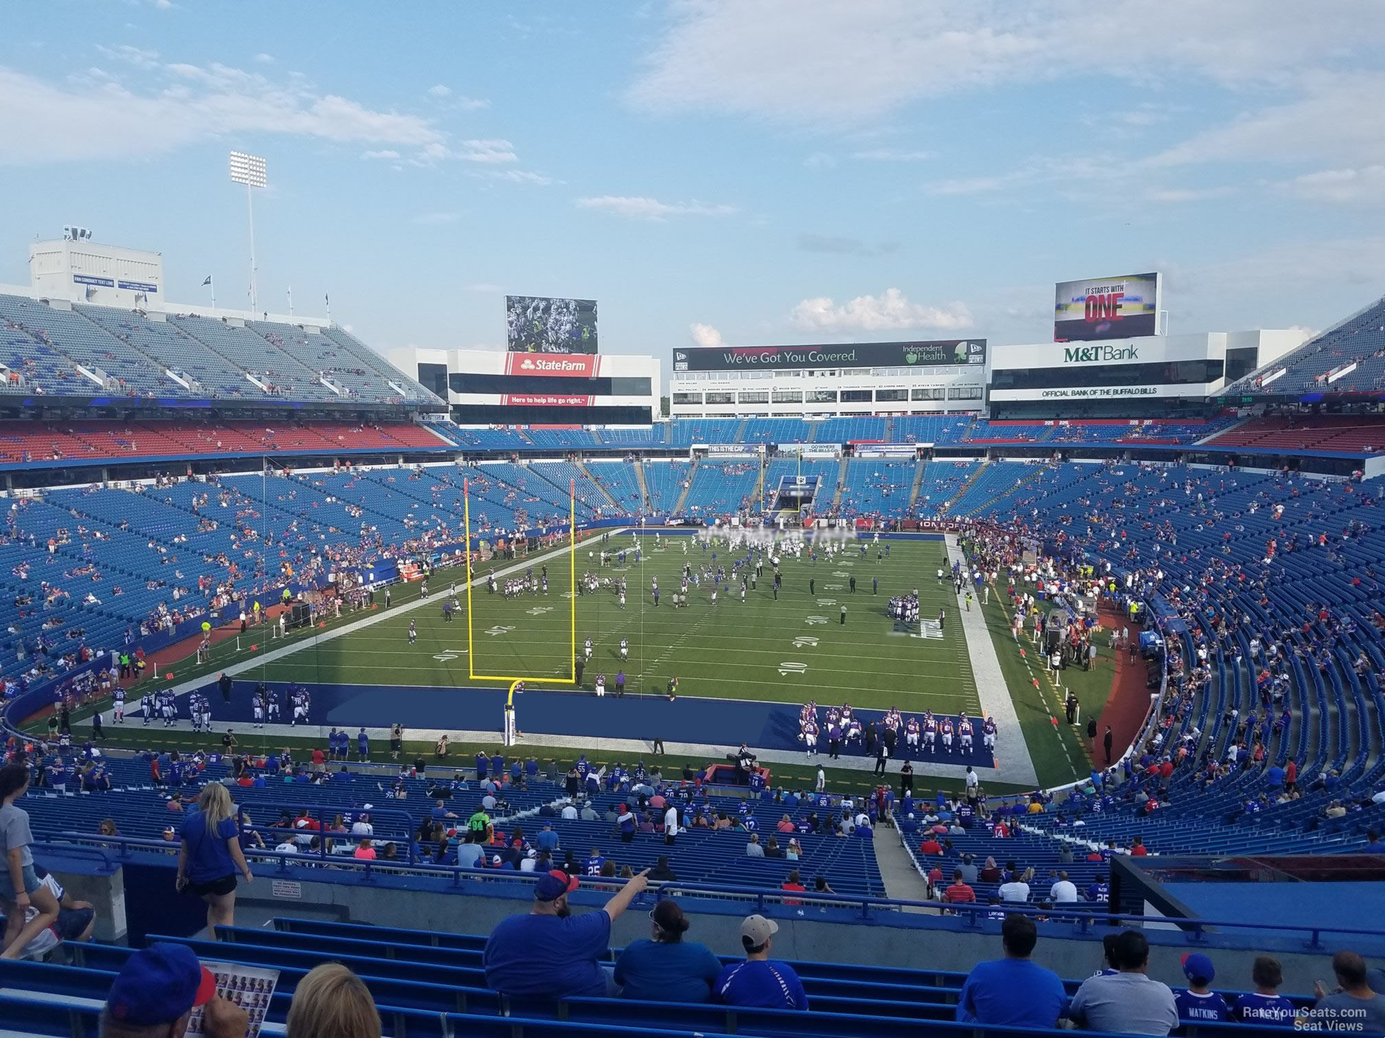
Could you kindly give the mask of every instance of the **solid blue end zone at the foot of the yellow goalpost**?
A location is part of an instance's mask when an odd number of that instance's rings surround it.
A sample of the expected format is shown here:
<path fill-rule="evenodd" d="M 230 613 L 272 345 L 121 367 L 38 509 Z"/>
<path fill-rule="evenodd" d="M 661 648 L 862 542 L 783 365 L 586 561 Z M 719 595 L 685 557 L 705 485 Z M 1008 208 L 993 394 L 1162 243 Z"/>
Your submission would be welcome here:
<path fill-rule="evenodd" d="M 285 682 L 269 682 L 270 688 L 287 688 Z M 242 727 L 251 724 L 248 681 L 237 681 L 231 704 L 222 703 L 215 684 L 208 686 L 206 698 L 212 703 L 215 728 Z M 494 732 L 499 740 L 503 707 L 507 689 L 503 688 L 439 688 L 428 685 L 307 685 L 313 706 L 309 721 L 313 725 L 335 725 L 355 731 L 367 728 L 388 728 L 402 724 L 404 728 L 454 729 Z M 532 735 L 569 735 L 587 739 L 638 739 L 655 738 L 669 742 L 706 743 L 726 746 L 734 750 L 741 742 L 762 750 L 802 752 L 798 740 L 798 711 L 792 703 L 766 703 L 749 699 L 706 699 L 681 696 L 669 702 L 663 696 L 597 698 L 591 692 L 558 692 L 530 689 L 515 700 L 515 711 L 521 732 Z M 855 710 L 866 721 L 879 721 L 882 710 Z M 940 717 L 940 716 L 939 716 Z M 974 718 L 975 720 L 975 718 Z M 281 724 L 287 724 L 281 713 Z M 138 724 L 138 714 L 129 714 L 126 725 Z M 158 722 L 150 725 L 157 728 Z M 979 725 L 978 725 L 979 728 Z M 896 758 L 903 752 L 903 736 L 896 745 Z M 827 761 L 827 739 L 819 738 L 819 756 Z M 864 757 L 860 745 L 842 747 L 842 757 Z M 994 758 L 981 745 L 976 732 L 976 746 L 970 754 L 954 747 L 946 753 L 920 752 L 913 760 L 928 760 L 974 768 L 994 767 Z"/>

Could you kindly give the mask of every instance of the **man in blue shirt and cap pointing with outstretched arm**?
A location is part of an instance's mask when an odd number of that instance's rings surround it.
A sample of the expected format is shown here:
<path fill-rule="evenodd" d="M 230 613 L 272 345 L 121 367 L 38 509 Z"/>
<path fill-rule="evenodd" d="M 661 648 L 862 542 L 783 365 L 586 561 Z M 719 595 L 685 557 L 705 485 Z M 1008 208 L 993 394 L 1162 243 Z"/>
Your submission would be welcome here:
<path fill-rule="evenodd" d="M 533 909 L 501 919 L 486 941 L 486 984 L 519 998 L 614 995 L 615 983 L 598 959 L 611 943 L 611 922 L 647 884 L 648 873 L 641 872 L 604 908 L 573 916 L 568 895 L 578 889 L 578 877 L 558 871 L 544 873 L 533 884 Z"/>

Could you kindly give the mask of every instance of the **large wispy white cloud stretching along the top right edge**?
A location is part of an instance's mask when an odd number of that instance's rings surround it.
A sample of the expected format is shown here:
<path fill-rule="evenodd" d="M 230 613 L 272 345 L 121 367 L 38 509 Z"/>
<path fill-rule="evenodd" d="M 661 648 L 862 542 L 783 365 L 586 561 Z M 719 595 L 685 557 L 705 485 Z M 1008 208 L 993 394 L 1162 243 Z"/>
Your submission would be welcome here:
<path fill-rule="evenodd" d="M 814 127 L 1055 79 L 1283 86 L 1385 35 L 1377 0 L 1320 4 L 1313 18 L 1262 0 L 687 0 L 672 11 L 630 104 Z M 1133 25 L 1140 47 L 1112 47 Z M 1082 60 L 1054 60 L 1071 54 Z"/>

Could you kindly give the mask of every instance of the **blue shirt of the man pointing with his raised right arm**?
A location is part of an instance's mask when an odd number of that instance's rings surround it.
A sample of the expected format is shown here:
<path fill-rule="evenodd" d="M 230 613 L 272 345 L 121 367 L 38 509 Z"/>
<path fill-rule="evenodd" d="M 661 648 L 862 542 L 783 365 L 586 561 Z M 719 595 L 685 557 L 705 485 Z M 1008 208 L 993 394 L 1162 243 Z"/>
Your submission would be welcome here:
<path fill-rule="evenodd" d="M 486 941 L 481 962 L 486 987 L 506 995 L 546 1001 L 602 996 L 605 972 L 597 959 L 611 943 L 605 909 L 571 915 L 512 915 Z"/>

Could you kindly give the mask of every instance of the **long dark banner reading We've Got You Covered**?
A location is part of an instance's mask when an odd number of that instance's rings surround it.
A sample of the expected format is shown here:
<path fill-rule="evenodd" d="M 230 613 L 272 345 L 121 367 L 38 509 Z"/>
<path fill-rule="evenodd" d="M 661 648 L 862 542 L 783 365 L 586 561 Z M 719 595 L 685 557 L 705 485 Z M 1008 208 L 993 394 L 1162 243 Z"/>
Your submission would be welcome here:
<path fill-rule="evenodd" d="M 674 371 L 798 371 L 985 364 L 985 339 L 812 346 L 704 346 L 673 350 Z"/>

